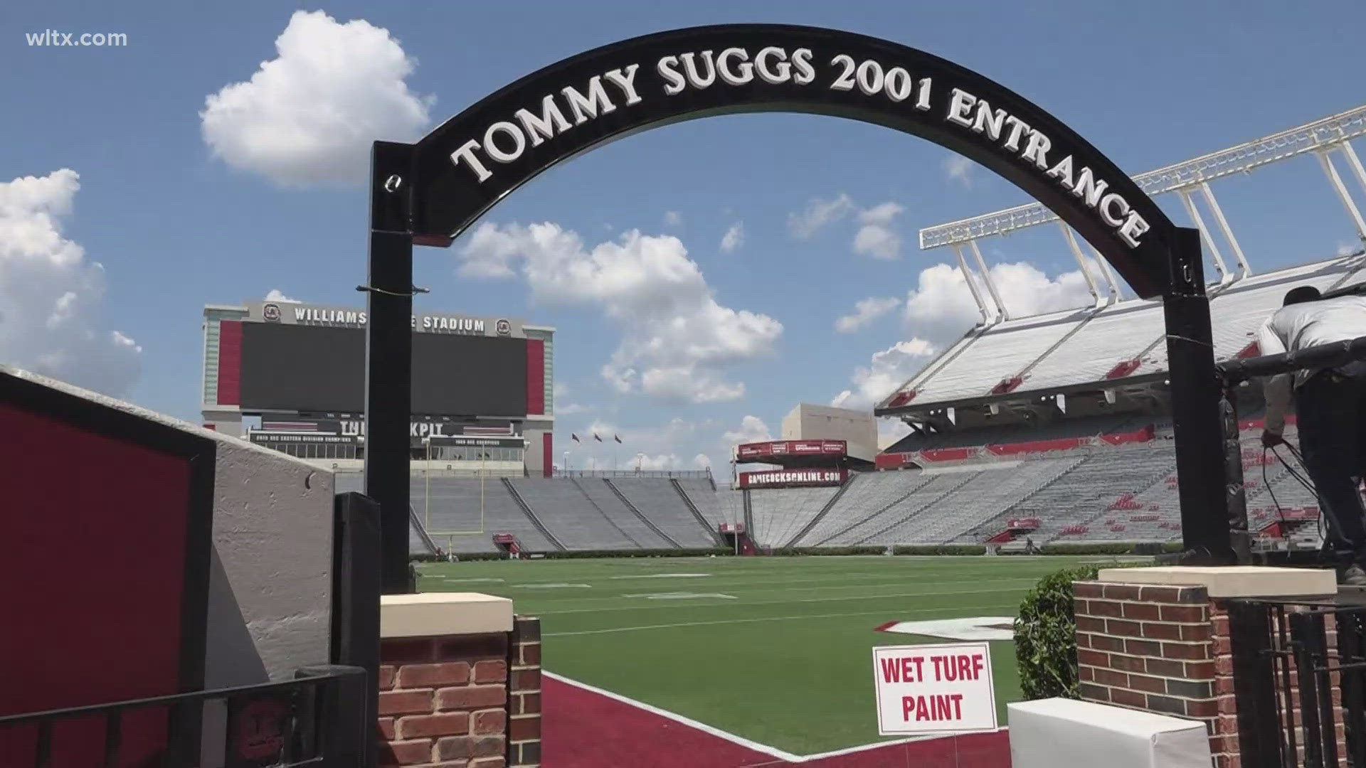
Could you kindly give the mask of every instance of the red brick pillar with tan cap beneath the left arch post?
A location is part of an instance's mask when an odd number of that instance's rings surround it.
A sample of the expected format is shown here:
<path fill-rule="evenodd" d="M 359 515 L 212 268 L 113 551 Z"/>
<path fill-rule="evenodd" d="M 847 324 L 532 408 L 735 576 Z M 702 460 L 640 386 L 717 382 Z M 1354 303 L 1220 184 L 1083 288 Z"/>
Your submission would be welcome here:
<path fill-rule="evenodd" d="M 387 594 L 380 634 L 380 765 L 504 768 L 523 653 L 511 600 Z"/>

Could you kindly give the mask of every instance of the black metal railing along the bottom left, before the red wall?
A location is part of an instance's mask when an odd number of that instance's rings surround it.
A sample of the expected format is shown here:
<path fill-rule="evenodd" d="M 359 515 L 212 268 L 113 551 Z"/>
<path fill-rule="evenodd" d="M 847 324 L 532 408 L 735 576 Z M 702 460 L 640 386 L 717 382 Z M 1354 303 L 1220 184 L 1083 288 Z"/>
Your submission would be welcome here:
<path fill-rule="evenodd" d="M 75 752 L 81 765 L 195 768 L 204 745 L 221 738 L 221 761 L 209 763 L 225 768 L 362 768 L 373 727 L 365 689 L 363 668 L 320 666 L 291 681 L 10 715 L 0 717 L 0 749 L 4 765 L 68 765 Z M 149 717 L 164 719 L 164 732 L 148 728 Z"/>

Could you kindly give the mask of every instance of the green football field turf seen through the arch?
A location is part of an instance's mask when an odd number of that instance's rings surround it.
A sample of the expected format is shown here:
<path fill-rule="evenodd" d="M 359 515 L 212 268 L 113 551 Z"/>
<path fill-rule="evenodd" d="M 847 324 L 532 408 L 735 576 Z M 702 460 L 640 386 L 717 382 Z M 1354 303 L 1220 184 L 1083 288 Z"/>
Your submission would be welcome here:
<path fill-rule="evenodd" d="M 889 622 L 1014 616 L 1034 582 L 1100 558 L 638 558 L 421 566 L 422 592 L 511 597 L 544 666 L 796 754 L 878 741 L 872 648 L 952 642 Z M 1014 644 L 992 642 L 1005 702 Z"/>

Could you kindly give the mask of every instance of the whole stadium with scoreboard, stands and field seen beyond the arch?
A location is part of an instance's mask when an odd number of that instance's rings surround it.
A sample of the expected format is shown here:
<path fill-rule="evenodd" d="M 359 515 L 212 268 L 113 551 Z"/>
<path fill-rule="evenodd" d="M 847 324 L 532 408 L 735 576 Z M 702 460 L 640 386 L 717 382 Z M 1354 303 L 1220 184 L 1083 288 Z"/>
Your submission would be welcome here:
<path fill-rule="evenodd" d="M 1179 198 L 1202 234 L 1218 361 L 1259 354 L 1254 335 L 1288 288 L 1362 283 L 1366 254 L 1257 272 L 1212 182 L 1314 154 L 1366 236 L 1339 169 L 1366 190 L 1350 143 L 1362 133 L 1366 108 L 1137 176 L 1150 194 Z M 881 764 L 897 749 L 925 758 L 911 742 L 877 741 L 862 715 L 858 650 L 888 642 L 988 640 L 1004 719 L 1020 697 L 1008 626 L 1026 590 L 1063 564 L 1142 562 L 1182 540 L 1161 302 L 1120 298 L 1105 260 L 1083 253 L 1067 227 L 1061 243 L 1091 303 L 1015 317 L 990 282 L 978 241 L 1055 221 L 1035 204 L 922 230 L 922 247 L 955 251 L 977 325 L 872 411 L 796 406 L 780 439 L 734 447 L 732 463 L 751 470 L 729 478 L 556 469 L 553 329 L 414 317 L 419 589 L 474 586 L 542 616 L 555 642 L 546 705 L 582 713 L 548 720 L 545 738 L 616 745 L 626 752 L 613 764 L 634 764 L 639 739 L 602 732 L 600 717 L 642 732 L 664 717 L 710 734 L 694 749 L 712 757 L 693 764 L 750 764 L 729 763 L 728 749 L 840 765 Z M 363 313 L 337 307 L 205 307 L 206 424 L 336 470 L 339 491 L 359 491 L 363 324 Z M 460 379 L 475 385 L 447 387 Z M 482 400 L 488 392 L 505 402 Z M 1240 387 L 1236 409 L 1254 547 L 1317 549 L 1315 496 L 1257 443 L 1259 387 Z M 243 417 L 260 426 L 243 428 Z M 910 433 L 878 450 L 878 418 Z M 779 556 L 719 558 L 728 553 Z M 822 553 L 869 556 L 781 558 Z M 749 672 L 734 683 L 719 682 L 724 671 L 695 674 L 723 655 L 738 670 L 829 671 L 762 686 Z M 805 686 L 821 689 L 818 704 Z M 602 696 L 628 705 L 607 713 Z M 1000 748 L 982 743 L 984 754 Z"/>

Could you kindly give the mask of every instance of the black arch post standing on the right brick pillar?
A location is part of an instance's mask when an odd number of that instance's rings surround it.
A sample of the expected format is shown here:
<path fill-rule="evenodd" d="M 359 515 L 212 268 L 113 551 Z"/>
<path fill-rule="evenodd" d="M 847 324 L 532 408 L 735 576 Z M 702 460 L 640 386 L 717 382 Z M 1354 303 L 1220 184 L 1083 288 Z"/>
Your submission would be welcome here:
<path fill-rule="evenodd" d="M 1214 372 L 1199 230 L 1175 230 L 1171 257 L 1172 275 L 1162 295 L 1162 314 L 1172 381 L 1184 562 L 1228 564 L 1238 558 L 1229 540 L 1221 392 Z"/>

